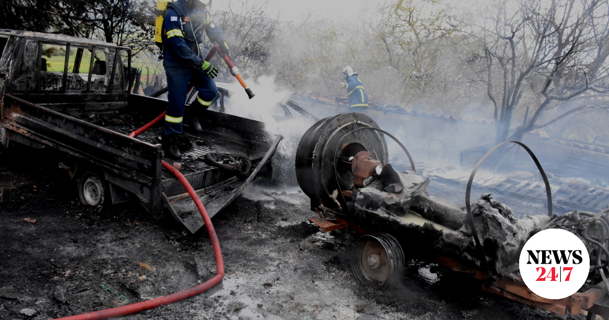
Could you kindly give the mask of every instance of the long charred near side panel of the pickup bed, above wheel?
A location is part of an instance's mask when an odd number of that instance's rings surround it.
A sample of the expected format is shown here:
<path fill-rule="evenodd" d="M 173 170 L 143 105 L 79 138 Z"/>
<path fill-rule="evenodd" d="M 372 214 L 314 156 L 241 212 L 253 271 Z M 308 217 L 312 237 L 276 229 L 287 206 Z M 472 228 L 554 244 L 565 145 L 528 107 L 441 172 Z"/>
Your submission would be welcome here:
<path fill-rule="evenodd" d="M 159 212 L 161 146 L 4 95 L 2 126 L 10 140 L 35 148 L 52 147 L 104 168 L 108 181 L 135 193 Z M 155 199 L 150 201 L 150 199 Z"/>

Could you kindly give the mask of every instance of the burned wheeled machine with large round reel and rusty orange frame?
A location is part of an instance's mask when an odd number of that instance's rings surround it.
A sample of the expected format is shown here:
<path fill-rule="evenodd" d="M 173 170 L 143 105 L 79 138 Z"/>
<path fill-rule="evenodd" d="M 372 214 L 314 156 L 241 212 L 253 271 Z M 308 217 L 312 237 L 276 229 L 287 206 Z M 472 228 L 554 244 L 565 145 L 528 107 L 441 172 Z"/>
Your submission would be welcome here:
<path fill-rule="evenodd" d="M 297 149 L 298 183 L 311 199 L 311 210 L 318 214 L 310 221 L 323 232 L 346 228 L 364 235 L 354 244 L 351 257 L 359 280 L 384 288 L 404 268 L 406 249 L 411 256 L 470 275 L 489 293 L 561 315 L 588 310 L 589 317 L 609 316 L 607 280 L 600 279 L 604 271 L 599 268 L 609 259 L 609 240 L 598 236 L 609 230 L 609 210 L 596 215 L 577 211 L 560 217 L 553 215 L 546 174 L 533 152 L 519 142 L 516 144 L 529 152 L 541 172 L 548 215 L 516 219 L 509 207 L 490 194 L 470 202 L 477 169 L 500 145 L 491 149 L 471 173 L 466 205 L 456 208 L 443 204 L 426 195 L 430 181 L 418 176 L 412 158 L 399 141 L 411 171 L 397 172 L 392 168 L 387 161 L 385 135 L 395 140 L 368 116 L 345 113 L 314 124 Z M 519 277 L 521 247 L 530 236 L 547 228 L 561 228 L 579 236 L 594 260 L 591 268 L 594 264 L 600 271 L 591 272 L 582 289 L 564 299 L 537 296 Z M 498 239 L 510 246 L 502 245 Z"/>

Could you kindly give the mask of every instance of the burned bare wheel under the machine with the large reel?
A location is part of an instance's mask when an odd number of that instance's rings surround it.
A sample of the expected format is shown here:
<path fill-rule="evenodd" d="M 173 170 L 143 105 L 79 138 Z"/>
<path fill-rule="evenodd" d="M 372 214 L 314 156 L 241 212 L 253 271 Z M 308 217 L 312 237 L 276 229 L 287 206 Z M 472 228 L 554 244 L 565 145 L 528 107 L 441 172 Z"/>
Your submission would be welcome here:
<path fill-rule="evenodd" d="M 355 242 L 351 268 L 361 282 L 382 289 L 404 269 L 404 251 L 392 235 L 361 236 Z"/>

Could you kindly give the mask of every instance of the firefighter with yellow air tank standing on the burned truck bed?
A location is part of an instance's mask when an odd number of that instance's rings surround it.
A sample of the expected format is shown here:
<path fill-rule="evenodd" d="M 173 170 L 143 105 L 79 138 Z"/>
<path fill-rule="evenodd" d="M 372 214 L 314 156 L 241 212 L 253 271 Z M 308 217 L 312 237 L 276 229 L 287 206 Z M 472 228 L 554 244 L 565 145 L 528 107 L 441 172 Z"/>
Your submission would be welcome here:
<path fill-rule="evenodd" d="M 172 158 L 180 158 L 180 135 L 185 110 L 188 84 L 192 84 L 199 93 L 191 104 L 197 108 L 207 109 L 216 97 L 218 89 L 213 78 L 218 70 L 211 63 L 201 58 L 199 43 L 203 31 L 209 40 L 219 44 L 224 54 L 228 54 L 228 44 L 224 41 L 222 31 L 216 27 L 209 15 L 209 0 L 177 0 L 167 4 L 163 20 L 163 66 L 167 74 L 167 104 L 163 149 Z M 196 116 L 190 117 L 193 129 L 202 127 Z"/>

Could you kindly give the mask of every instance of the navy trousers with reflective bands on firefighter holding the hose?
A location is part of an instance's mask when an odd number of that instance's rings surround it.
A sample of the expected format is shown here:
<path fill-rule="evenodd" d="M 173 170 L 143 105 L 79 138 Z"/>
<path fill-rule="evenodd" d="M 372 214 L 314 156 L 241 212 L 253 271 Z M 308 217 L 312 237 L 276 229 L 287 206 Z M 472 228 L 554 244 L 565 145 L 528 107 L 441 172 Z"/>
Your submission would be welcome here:
<path fill-rule="evenodd" d="M 182 133 L 182 120 L 186 104 L 188 84 L 199 90 L 197 99 L 192 103 L 208 108 L 218 93 L 216 82 L 209 79 L 202 71 L 194 68 L 166 68 L 167 74 L 167 112 L 165 115 L 165 135 Z"/>

